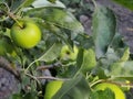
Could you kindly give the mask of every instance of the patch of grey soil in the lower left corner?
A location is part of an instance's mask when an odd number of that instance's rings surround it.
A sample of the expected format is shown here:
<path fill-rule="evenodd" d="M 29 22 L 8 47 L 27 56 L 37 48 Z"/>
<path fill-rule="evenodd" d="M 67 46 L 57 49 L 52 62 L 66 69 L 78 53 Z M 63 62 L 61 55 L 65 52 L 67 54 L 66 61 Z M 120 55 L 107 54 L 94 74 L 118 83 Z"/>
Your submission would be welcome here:
<path fill-rule="evenodd" d="M 0 99 L 9 99 L 11 94 L 18 91 L 18 85 L 9 62 L 0 56 Z"/>

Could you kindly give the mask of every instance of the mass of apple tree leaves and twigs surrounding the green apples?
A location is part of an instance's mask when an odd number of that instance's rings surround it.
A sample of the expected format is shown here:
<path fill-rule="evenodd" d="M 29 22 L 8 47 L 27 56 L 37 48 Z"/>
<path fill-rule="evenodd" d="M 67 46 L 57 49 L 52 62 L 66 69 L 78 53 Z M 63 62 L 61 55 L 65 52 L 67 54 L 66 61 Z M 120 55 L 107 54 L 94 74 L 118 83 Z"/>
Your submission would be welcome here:
<path fill-rule="evenodd" d="M 82 0 L 70 1 L 82 6 Z M 70 1 L 65 0 L 68 4 Z M 94 1 L 92 6 L 93 33 L 86 35 L 82 24 L 61 1 L 0 1 L 0 37 L 8 38 L 16 52 L 16 55 L 6 52 L 2 56 L 19 69 L 21 79 L 11 99 L 43 99 L 51 80 L 64 81 L 53 99 L 106 99 L 110 96 L 113 99 L 110 89 L 93 89 L 103 81 L 132 87 L 132 55 L 116 31 L 115 14 Z M 21 48 L 12 42 L 10 30 L 20 19 L 34 21 L 42 32 L 41 41 L 33 48 Z M 63 45 L 71 52 L 78 46 L 76 59 L 60 59 Z"/>

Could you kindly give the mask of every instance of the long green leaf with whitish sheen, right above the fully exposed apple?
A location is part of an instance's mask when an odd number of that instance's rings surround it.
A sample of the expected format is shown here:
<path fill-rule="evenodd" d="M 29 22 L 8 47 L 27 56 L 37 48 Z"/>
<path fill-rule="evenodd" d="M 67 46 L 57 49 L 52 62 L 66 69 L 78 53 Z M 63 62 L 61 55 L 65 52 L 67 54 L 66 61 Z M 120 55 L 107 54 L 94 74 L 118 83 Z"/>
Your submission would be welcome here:
<path fill-rule="evenodd" d="M 75 37 L 79 33 L 84 33 L 82 24 L 74 18 L 72 13 L 65 9 L 31 9 L 29 11 L 25 11 L 25 15 L 41 18 L 50 24 L 54 24 L 59 28 L 72 31 L 70 35 L 73 37 Z"/>

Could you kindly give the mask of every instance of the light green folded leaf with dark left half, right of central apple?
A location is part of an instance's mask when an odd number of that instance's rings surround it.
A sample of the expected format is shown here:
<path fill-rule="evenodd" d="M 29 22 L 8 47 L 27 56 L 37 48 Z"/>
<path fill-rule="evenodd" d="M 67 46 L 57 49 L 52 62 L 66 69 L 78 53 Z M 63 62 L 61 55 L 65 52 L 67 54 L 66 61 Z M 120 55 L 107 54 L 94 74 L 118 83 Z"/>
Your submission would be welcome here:
<path fill-rule="evenodd" d="M 79 73 L 90 73 L 96 66 L 95 53 L 92 48 L 84 50 L 80 48 L 76 58 L 76 74 Z"/>

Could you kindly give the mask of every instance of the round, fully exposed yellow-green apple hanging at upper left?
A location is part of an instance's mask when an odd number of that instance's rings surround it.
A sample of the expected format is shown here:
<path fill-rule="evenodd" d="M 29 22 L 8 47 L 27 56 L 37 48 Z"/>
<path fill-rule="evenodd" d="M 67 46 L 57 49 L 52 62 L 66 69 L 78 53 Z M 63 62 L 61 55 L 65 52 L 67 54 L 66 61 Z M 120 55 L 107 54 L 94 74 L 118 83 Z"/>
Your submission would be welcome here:
<path fill-rule="evenodd" d="M 23 28 L 20 28 L 18 23 L 14 23 L 11 28 L 11 38 L 22 48 L 34 47 L 41 40 L 39 26 L 33 21 L 21 20 L 19 23 Z"/>

